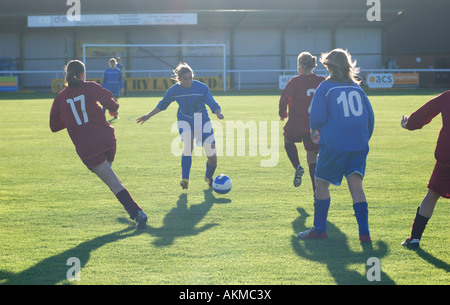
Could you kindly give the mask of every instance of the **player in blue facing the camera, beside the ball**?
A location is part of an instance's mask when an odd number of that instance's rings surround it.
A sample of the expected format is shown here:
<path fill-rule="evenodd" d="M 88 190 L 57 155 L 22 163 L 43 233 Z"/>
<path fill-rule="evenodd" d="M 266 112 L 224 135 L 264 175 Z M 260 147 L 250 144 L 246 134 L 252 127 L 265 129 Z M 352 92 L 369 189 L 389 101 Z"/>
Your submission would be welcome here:
<path fill-rule="evenodd" d="M 224 118 L 219 104 L 216 103 L 207 85 L 193 80 L 194 72 L 186 63 L 180 63 L 173 71 L 176 81 L 164 94 L 163 99 L 148 114 L 136 120 L 141 125 L 160 111 L 166 110 L 173 102 L 178 103 L 178 130 L 183 140 L 183 154 L 181 156 L 181 182 L 183 189 L 189 185 L 189 174 L 192 164 L 192 149 L 194 138 L 202 144 L 208 158 L 206 162 L 205 181 L 212 186 L 213 174 L 217 167 L 217 156 L 214 132 L 208 116 L 206 105 L 217 118 Z"/>

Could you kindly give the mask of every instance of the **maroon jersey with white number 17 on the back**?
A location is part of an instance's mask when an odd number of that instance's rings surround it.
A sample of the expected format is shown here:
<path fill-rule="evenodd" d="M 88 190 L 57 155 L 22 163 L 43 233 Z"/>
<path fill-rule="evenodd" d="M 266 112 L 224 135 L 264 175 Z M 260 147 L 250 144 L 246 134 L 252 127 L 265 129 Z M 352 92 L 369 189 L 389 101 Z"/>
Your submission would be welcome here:
<path fill-rule="evenodd" d="M 67 128 L 82 160 L 108 151 L 116 144 L 114 128 L 106 121 L 97 102 L 112 112 L 119 108 L 110 91 L 96 82 L 80 82 L 59 92 L 50 111 L 50 129 L 57 132 Z"/>

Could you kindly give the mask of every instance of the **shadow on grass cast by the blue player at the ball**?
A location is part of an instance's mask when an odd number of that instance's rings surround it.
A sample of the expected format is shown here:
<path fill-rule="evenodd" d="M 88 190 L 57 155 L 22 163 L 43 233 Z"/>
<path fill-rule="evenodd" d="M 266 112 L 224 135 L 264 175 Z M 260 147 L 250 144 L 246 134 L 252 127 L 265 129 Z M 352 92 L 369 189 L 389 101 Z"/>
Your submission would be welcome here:
<path fill-rule="evenodd" d="M 154 241 L 155 246 L 170 246 L 176 238 L 197 235 L 217 226 L 217 223 L 208 223 L 197 227 L 215 203 L 230 202 L 230 199 L 216 198 L 212 190 L 205 190 L 202 203 L 188 205 L 188 195 L 183 193 L 179 196 L 176 207 L 164 217 L 163 226 L 154 228 L 147 223 L 147 232 L 158 237 Z"/>

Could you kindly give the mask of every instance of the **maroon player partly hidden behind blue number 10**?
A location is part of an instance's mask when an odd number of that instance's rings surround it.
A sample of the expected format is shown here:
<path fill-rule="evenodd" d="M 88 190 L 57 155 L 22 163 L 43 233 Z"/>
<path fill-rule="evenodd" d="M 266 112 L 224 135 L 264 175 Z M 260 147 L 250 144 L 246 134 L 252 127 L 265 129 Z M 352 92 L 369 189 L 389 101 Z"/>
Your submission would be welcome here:
<path fill-rule="evenodd" d="M 313 191 L 315 190 L 314 173 L 316 171 L 319 146 L 311 140 L 308 110 L 314 91 L 325 80 L 325 77 L 313 73 L 316 67 L 317 61 L 315 56 L 312 56 L 309 52 L 300 53 L 297 57 L 299 75 L 289 80 L 281 93 L 279 102 L 279 116 L 281 120 L 289 116 L 284 126 L 284 148 L 295 169 L 294 186 L 298 187 L 301 185 L 304 173 L 295 143 L 303 142 Z M 287 112 L 288 107 L 289 115 Z"/>

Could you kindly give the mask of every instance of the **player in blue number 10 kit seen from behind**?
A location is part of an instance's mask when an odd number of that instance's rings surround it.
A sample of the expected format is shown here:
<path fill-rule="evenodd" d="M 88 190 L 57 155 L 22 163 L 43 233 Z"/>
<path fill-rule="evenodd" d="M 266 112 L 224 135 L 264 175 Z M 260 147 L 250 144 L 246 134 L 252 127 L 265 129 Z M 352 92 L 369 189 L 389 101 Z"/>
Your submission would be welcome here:
<path fill-rule="evenodd" d="M 372 106 L 357 79 L 358 68 L 348 51 L 335 49 L 322 54 L 330 76 L 314 93 L 311 104 L 311 134 L 320 130 L 314 195 L 314 227 L 299 238 L 327 237 L 330 184 L 339 186 L 346 177 L 358 223 L 359 239 L 371 242 L 367 199 L 362 187 L 369 139 L 374 129 Z"/>

